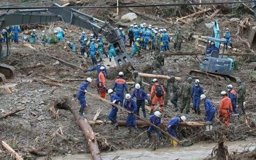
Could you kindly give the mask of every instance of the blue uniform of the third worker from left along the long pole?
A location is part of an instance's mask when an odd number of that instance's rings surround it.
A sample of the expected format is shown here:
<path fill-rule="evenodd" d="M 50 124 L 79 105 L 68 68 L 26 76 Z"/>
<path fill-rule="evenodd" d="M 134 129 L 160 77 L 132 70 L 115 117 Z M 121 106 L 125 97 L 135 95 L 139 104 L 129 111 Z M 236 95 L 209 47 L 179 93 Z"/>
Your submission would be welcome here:
<path fill-rule="evenodd" d="M 136 114 L 136 112 L 137 112 L 137 105 L 132 98 L 130 99 L 130 101 L 128 101 L 126 99 L 126 101 L 124 101 L 123 107 L 126 108 L 128 111 L 132 112 L 133 114 Z M 126 126 L 127 127 L 133 126 L 134 128 L 137 128 L 136 119 L 133 114 L 128 113 L 127 120 L 126 120 Z"/>

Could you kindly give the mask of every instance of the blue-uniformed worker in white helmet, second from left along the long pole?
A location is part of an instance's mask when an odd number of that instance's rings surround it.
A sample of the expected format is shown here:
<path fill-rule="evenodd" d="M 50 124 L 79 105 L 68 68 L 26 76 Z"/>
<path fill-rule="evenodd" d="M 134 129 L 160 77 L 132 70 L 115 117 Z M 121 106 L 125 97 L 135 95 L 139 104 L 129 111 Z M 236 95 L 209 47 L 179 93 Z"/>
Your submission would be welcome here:
<path fill-rule="evenodd" d="M 112 89 L 108 90 L 108 94 L 110 96 L 110 101 L 113 104 L 118 105 L 120 103 L 121 99 L 118 96 L 116 96 L 116 94 L 114 93 L 114 91 Z M 114 128 L 118 130 L 119 126 L 118 126 L 118 123 L 117 123 L 117 120 L 116 120 L 116 118 L 117 118 L 117 111 L 118 111 L 118 108 L 116 106 L 112 105 L 111 111 L 108 114 L 108 119 L 110 121 L 112 121 L 112 123 L 114 124 Z"/>

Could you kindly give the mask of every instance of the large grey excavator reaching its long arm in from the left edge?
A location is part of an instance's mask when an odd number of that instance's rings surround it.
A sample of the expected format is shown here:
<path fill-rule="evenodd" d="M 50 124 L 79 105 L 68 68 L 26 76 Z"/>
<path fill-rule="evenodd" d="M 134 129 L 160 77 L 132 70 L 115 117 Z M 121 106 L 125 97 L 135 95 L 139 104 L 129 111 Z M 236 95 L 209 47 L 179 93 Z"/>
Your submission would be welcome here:
<path fill-rule="evenodd" d="M 96 37 L 98 37 L 99 34 L 103 35 L 115 48 L 117 54 L 114 58 L 116 66 L 128 70 L 134 69 L 130 56 L 124 47 L 118 28 L 114 28 L 105 21 L 94 18 L 84 12 L 72 8 L 63 8 L 63 6 L 57 3 L 54 3 L 53 6 L 57 6 L 58 8 L 24 9 L 13 12 L 7 11 L 0 15 L 0 31 L 5 27 L 12 25 L 45 24 L 54 21 L 63 21 L 68 25 L 76 25 L 86 28 L 87 30 L 92 31 Z M 4 34 L 4 36 L 6 36 L 6 41 L 0 42 L 0 59 L 5 59 L 10 54 L 11 49 L 7 33 Z M 11 78 L 13 76 L 13 71 L 14 68 L 12 66 L 0 62 L 0 82 L 3 82 L 5 78 Z"/>

